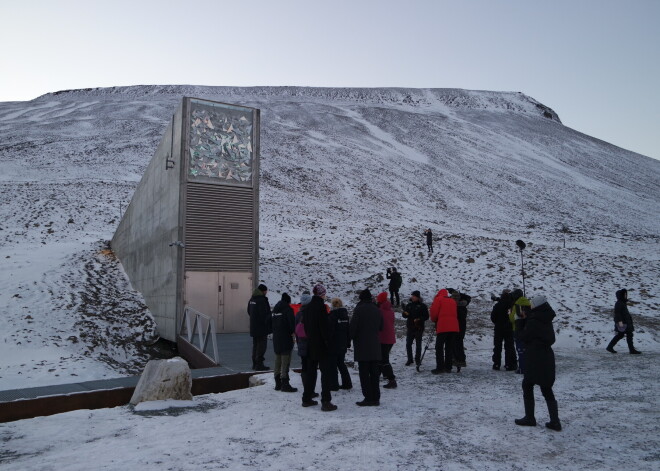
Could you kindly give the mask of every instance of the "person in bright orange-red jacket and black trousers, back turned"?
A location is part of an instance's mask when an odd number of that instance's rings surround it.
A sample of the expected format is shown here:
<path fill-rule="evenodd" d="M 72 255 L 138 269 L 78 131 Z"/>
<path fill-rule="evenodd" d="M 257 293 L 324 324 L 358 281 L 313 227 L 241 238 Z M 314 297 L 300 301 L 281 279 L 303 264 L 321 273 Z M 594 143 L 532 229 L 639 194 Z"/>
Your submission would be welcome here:
<path fill-rule="evenodd" d="M 431 305 L 431 320 L 435 322 L 435 369 L 433 374 L 451 373 L 454 337 L 459 332 L 456 301 L 441 289 Z"/>

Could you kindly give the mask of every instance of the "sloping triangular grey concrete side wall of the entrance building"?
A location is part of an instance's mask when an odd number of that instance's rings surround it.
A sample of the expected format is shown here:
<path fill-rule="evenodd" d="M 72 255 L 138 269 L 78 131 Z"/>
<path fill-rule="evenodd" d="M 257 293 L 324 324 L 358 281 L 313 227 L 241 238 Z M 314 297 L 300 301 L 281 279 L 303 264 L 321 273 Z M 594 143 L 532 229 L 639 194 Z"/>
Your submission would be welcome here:
<path fill-rule="evenodd" d="M 181 182 L 183 102 L 138 184 L 114 237 L 112 249 L 133 288 L 140 291 L 161 337 L 176 341 L 182 285 Z M 166 168 L 171 167 L 171 168 Z"/>

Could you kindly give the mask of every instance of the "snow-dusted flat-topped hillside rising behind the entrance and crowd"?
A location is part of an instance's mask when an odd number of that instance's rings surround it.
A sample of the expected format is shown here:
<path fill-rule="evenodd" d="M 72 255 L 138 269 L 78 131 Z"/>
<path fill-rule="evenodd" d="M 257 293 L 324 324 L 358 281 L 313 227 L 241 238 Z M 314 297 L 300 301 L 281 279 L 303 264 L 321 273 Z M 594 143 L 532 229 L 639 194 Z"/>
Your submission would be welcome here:
<path fill-rule="evenodd" d="M 103 241 L 182 96 L 262 110 L 271 302 L 323 281 L 351 304 L 397 266 L 404 295 L 474 295 L 470 342 L 487 343 L 490 293 L 521 284 L 523 239 L 527 291 L 558 310 L 559 346 L 608 340 L 628 287 L 640 348 L 658 348 L 660 162 L 521 93 L 136 86 L 0 103 L 0 388 L 135 372 L 148 357 L 153 323 Z"/>

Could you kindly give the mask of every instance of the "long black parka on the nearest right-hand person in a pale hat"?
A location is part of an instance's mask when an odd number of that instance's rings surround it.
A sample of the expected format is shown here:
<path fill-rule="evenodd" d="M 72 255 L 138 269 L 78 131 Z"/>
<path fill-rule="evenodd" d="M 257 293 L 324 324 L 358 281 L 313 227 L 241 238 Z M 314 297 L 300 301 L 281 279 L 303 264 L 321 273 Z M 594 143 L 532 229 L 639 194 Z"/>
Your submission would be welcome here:
<path fill-rule="evenodd" d="M 555 311 L 550 304 L 543 303 L 529 311 L 519 334 L 525 345 L 525 381 L 539 386 L 552 387 L 555 383 L 554 318 Z"/>

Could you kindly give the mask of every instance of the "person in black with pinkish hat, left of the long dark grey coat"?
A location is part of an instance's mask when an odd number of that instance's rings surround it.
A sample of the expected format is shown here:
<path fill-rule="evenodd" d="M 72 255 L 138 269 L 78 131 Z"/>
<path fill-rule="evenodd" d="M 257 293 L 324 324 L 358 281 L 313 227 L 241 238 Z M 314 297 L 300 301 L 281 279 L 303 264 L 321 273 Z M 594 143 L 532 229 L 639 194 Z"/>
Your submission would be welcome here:
<path fill-rule="evenodd" d="M 302 323 L 307 335 L 307 357 L 305 365 L 305 384 L 302 397 L 303 407 L 315 406 L 312 399 L 316 387 L 316 370 L 321 370 L 321 410 L 328 412 L 337 409 L 332 401 L 332 372 L 336 368 L 329 352 L 332 338 L 332 325 L 324 303 L 326 290 L 321 284 L 314 286 L 312 300 L 303 309 Z"/>

